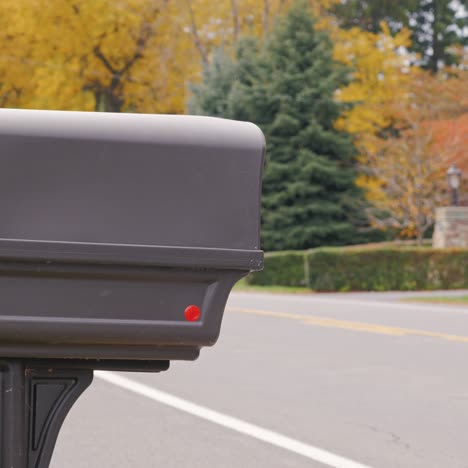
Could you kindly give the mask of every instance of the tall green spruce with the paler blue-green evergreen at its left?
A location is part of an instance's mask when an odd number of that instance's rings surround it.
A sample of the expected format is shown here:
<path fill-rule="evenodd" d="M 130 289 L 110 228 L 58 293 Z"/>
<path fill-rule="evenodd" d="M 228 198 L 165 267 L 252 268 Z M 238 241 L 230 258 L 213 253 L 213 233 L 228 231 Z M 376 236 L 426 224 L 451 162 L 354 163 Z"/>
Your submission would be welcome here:
<path fill-rule="evenodd" d="M 277 23 L 262 50 L 246 41 L 235 61 L 218 55 L 193 89 L 192 110 L 249 120 L 265 133 L 265 250 L 361 240 L 354 224 L 362 200 L 354 184 L 354 146 L 334 128 L 342 110 L 334 94 L 346 76 L 332 58 L 328 36 L 315 29 L 300 2 Z"/>

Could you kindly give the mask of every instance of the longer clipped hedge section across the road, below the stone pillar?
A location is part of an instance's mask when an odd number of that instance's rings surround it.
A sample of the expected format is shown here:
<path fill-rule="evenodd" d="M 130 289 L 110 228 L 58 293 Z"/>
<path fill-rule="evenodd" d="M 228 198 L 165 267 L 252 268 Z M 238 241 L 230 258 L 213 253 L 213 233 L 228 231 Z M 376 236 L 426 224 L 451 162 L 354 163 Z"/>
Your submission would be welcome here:
<path fill-rule="evenodd" d="M 468 287 L 468 249 L 319 248 L 307 255 L 316 291 L 412 291 Z"/>

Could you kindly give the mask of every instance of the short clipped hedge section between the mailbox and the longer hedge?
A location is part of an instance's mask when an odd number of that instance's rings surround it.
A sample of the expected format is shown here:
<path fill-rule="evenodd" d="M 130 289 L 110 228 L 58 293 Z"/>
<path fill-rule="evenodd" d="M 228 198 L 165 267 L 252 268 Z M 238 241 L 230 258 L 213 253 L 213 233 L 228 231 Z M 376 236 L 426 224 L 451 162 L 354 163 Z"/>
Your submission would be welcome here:
<path fill-rule="evenodd" d="M 304 274 L 306 251 L 265 254 L 265 268 L 246 279 L 259 286 L 307 286 Z"/>

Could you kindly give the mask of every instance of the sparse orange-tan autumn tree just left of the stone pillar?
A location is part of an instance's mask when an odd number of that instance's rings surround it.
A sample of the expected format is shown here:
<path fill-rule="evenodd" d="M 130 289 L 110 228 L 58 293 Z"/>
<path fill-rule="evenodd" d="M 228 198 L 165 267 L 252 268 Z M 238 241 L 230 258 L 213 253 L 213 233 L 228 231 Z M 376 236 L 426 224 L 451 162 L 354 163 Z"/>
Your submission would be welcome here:
<path fill-rule="evenodd" d="M 374 136 L 362 165 L 375 226 L 422 242 L 435 208 L 445 203 L 447 167 L 463 151 L 459 138 L 438 144 L 438 123 L 468 111 L 467 85 L 466 72 L 431 76 L 418 71 L 405 99 L 388 104 L 394 124 L 387 134 Z"/>

